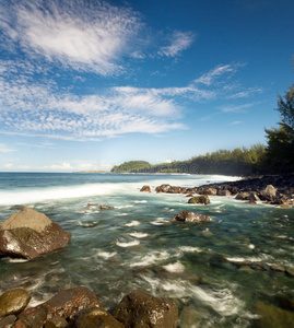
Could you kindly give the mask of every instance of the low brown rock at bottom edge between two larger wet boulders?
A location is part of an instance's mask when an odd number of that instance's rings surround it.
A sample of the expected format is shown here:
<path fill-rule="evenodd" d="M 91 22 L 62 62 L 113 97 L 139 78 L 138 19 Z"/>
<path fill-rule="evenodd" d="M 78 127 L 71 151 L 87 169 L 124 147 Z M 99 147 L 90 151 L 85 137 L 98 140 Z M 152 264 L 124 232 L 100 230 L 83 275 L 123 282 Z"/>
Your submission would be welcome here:
<path fill-rule="evenodd" d="M 71 326 L 72 328 L 124 328 L 108 312 L 101 307 L 86 308 L 79 312 Z"/>

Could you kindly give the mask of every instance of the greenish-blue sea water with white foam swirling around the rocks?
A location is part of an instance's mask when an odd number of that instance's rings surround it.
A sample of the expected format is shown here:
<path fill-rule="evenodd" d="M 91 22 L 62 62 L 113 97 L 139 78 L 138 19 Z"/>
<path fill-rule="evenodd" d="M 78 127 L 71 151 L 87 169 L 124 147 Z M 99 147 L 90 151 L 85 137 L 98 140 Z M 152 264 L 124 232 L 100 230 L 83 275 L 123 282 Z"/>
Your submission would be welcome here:
<path fill-rule="evenodd" d="M 271 304 L 281 294 L 293 298 L 294 278 L 272 270 L 240 270 L 234 262 L 293 270 L 293 209 L 217 196 L 210 196 L 209 206 L 188 204 L 186 195 L 154 191 L 161 184 L 195 187 L 236 179 L 0 173 L 0 223 L 16 211 L 13 206 L 22 204 L 72 233 L 69 245 L 52 254 L 34 260 L 0 259 L 0 293 L 23 286 L 34 306 L 63 289 L 84 285 L 109 309 L 140 289 L 172 297 L 179 307 L 179 327 L 250 327 L 258 301 Z M 140 192 L 143 185 L 152 192 Z M 114 209 L 101 210 L 99 204 Z M 209 215 L 212 222 L 172 223 L 181 210 Z"/>

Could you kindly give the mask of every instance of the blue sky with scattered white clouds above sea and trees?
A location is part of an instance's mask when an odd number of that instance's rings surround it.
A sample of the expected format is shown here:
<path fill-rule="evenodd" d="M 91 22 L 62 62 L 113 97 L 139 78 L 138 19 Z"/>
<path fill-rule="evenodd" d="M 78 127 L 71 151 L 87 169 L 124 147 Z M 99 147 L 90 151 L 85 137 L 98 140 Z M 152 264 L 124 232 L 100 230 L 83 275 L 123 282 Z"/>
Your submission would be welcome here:
<path fill-rule="evenodd" d="M 266 143 L 293 15 L 290 0 L 0 0 L 0 171 Z"/>

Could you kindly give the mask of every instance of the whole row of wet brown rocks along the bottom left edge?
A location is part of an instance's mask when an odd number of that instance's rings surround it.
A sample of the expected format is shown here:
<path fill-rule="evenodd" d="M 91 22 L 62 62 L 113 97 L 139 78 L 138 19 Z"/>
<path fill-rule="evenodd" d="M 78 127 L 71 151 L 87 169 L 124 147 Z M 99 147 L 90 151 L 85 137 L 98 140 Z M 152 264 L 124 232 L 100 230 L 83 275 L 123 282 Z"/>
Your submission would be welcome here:
<path fill-rule="evenodd" d="M 35 307 L 22 289 L 0 296 L 0 327 L 13 328 L 176 328 L 178 307 L 169 298 L 154 297 L 134 290 L 110 312 L 85 286 L 63 290 Z"/>

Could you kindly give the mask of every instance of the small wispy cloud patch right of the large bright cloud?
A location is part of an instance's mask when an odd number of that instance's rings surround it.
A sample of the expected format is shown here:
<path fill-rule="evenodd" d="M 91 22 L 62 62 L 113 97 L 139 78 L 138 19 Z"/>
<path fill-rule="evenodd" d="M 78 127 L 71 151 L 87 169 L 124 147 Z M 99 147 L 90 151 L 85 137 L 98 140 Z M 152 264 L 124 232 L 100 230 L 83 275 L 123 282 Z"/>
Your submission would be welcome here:
<path fill-rule="evenodd" d="M 188 49 L 195 40 L 195 34 L 191 32 L 176 31 L 170 36 L 170 44 L 168 46 L 161 47 L 158 50 L 160 56 L 176 57 L 181 51 Z"/>

